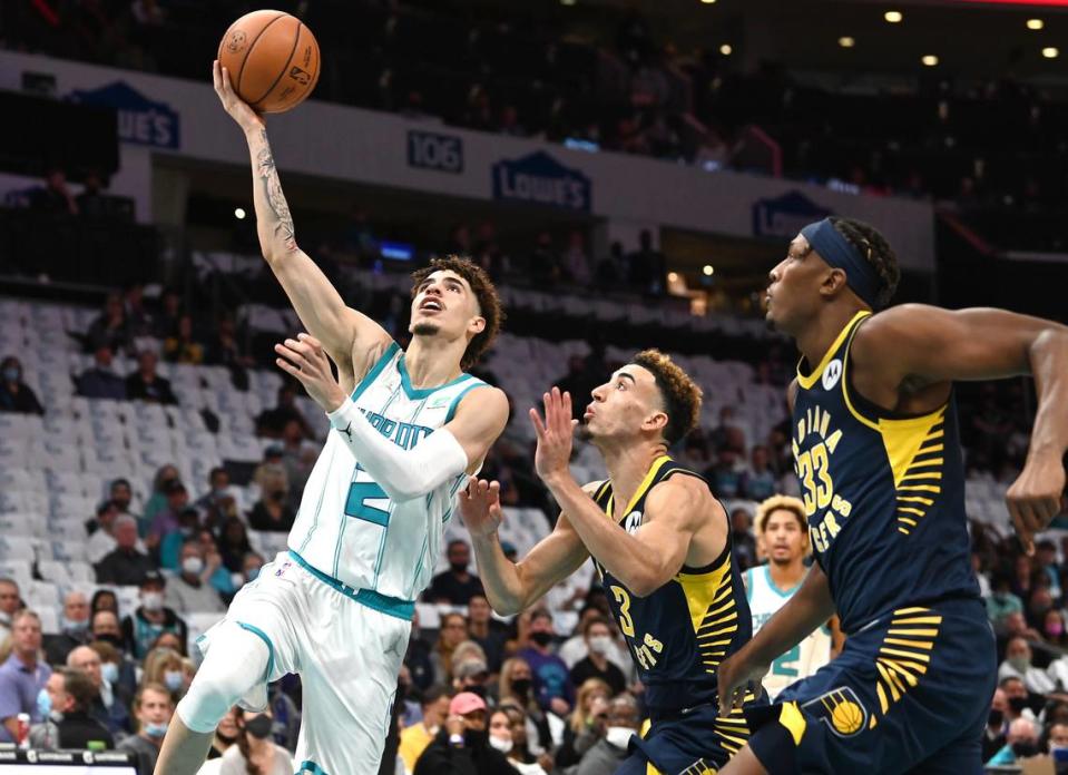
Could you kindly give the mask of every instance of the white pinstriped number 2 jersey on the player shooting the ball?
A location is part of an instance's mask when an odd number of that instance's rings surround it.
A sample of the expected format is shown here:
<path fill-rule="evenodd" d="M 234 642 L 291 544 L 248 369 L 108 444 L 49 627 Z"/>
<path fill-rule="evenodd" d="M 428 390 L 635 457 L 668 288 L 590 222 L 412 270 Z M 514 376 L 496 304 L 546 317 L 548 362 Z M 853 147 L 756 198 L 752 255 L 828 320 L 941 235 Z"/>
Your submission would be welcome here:
<path fill-rule="evenodd" d="M 375 430 L 411 449 L 452 420 L 460 399 L 486 383 L 470 374 L 439 387 L 412 387 L 393 343 L 352 393 Z M 445 522 L 466 474 L 424 498 L 394 503 L 331 430 L 301 499 L 288 546 L 316 570 L 355 589 L 414 600 L 430 583 Z"/>

